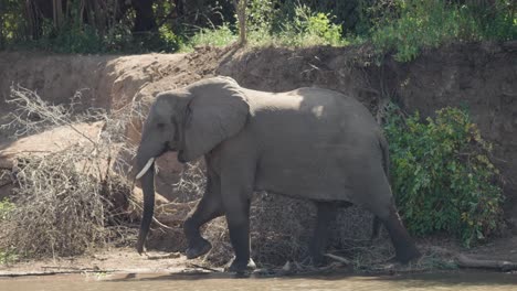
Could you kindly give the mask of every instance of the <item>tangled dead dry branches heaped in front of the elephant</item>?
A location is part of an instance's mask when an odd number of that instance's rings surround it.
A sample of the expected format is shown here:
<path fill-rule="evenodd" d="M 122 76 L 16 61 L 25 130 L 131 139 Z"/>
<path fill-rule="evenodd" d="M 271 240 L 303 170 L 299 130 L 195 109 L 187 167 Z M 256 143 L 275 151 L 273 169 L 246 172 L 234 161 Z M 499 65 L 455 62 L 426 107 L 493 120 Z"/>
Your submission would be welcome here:
<path fill-rule="evenodd" d="M 127 168 L 118 153 L 134 152 L 119 138 L 129 117 L 98 109 L 77 114 L 74 106 L 80 97 L 76 94 L 68 106 L 50 105 L 34 91 L 11 87 L 9 103 L 17 109 L 3 129 L 25 136 L 66 127 L 76 137 L 70 137 L 70 146 L 59 151 L 15 157 L 15 207 L 0 222 L 4 249 L 25 257 L 71 256 L 122 234 L 130 185 L 116 172 Z M 76 126 L 93 121 L 103 125 L 96 136 Z"/>

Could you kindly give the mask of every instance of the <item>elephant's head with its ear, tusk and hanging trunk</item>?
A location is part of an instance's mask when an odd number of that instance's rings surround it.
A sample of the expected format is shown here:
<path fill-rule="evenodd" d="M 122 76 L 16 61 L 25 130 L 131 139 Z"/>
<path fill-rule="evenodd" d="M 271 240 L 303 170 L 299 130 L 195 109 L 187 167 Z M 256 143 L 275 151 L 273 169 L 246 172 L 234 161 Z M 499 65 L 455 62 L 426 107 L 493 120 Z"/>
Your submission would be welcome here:
<path fill-rule="evenodd" d="M 246 96 L 229 77 L 197 82 L 186 88 L 157 95 L 144 125 L 136 155 L 136 179 L 144 191 L 144 214 L 137 250 L 144 250 L 155 207 L 155 159 L 177 151 L 178 161 L 193 161 L 245 125 L 250 106 Z"/>

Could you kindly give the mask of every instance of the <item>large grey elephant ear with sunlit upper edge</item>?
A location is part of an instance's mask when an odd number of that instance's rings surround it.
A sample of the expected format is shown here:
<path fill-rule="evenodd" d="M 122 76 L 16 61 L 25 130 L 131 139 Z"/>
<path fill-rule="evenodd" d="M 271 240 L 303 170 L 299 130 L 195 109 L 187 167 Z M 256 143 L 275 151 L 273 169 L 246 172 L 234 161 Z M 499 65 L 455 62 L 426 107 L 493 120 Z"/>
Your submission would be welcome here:
<path fill-rule="evenodd" d="M 235 80 L 215 77 L 188 87 L 192 99 L 183 123 L 182 160 L 192 161 L 244 127 L 250 106 Z"/>

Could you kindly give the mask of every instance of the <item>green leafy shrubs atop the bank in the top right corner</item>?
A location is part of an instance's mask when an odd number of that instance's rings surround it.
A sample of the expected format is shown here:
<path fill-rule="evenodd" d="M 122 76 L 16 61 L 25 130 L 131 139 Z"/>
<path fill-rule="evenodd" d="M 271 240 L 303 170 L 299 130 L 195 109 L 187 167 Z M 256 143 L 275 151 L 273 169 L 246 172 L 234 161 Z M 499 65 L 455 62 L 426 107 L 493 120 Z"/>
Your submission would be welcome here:
<path fill-rule="evenodd" d="M 379 52 L 394 52 L 400 62 L 443 43 L 517 39 L 517 14 L 509 0 L 488 8 L 435 0 L 397 2 L 389 13 L 378 15 L 371 41 Z"/>

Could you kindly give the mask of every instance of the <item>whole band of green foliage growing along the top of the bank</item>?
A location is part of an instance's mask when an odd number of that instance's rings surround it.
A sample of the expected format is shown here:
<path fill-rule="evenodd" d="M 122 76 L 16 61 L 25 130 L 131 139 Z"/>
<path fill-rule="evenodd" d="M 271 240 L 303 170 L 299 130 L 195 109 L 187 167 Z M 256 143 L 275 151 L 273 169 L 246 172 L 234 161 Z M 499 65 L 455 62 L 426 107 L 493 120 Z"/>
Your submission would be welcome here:
<path fill-rule="evenodd" d="M 35 0 L 0 0 L 0 50 L 176 52 L 196 45 L 229 45 L 236 40 L 231 1 L 194 1 L 178 9 L 175 2 L 155 0 L 157 29 L 145 33 L 133 31 L 137 15 L 131 1 L 96 1 L 103 2 L 103 9 L 89 11 L 95 6 L 84 4 L 93 1 L 67 0 L 63 23 L 43 18 L 36 21 L 40 31 L 25 15 L 27 3 Z M 517 39 L 517 4 L 513 0 L 249 0 L 246 10 L 251 45 L 371 42 L 380 55 L 393 53 L 401 62 L 444 43 Z"/>

